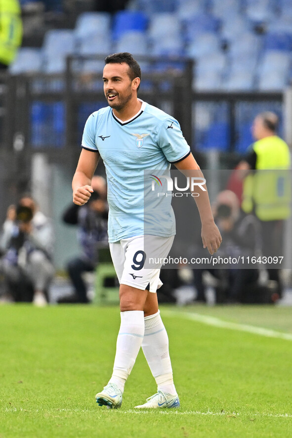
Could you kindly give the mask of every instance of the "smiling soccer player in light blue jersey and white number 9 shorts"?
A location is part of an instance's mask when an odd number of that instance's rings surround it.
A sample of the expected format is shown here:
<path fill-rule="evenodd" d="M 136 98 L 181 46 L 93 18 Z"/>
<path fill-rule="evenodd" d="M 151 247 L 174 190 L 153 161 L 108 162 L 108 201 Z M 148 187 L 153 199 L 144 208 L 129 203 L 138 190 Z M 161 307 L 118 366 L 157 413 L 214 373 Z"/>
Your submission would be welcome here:
<path fill-rule="evenodd" d="M 136 408 L 179 406 L 168 352 L 168 337 L 158 309 L 156 290 L 160 269 L 144 267 L 144 170 L 198 170 L 178 122 L 137 98 L 141 71 L 129 53 L 105 59 L 103 71 L 106 108 L 92 113 L 85 124 L 82 151 L 73 177 L 73 201 L 83 205 L 93 189 L 91 178 L 99 157 L 108 181 L 108 234 L 112 260 L 120 281 L 121 326 L 111 379 L 96 394 L 97 403 L 119 408 L 125 381 L 142 346 L 158 390 Z M 201 174 L 202 175 L 202 174 Z M 217 251 L 221 236 L 211 213 L 208 192 L 196 198 L 202 221 L 202 240 L 209 253 Z M 174 226 L 163 223 L 155 239 L 167 257 Z"/>

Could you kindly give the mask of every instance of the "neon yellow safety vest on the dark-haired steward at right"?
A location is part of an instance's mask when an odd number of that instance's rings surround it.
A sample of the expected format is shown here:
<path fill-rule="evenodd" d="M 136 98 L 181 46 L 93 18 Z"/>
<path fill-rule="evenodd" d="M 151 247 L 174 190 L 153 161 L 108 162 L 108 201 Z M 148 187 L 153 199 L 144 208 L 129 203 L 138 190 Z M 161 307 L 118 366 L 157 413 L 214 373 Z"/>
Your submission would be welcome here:
<path fill-rule="evenodd" d="M 290 216 L 291 175 L 288 145 L 277 135 L 253 144 L 256 171 L 243 185 L 242 209 L 260 220 L 287 219 Z"/>

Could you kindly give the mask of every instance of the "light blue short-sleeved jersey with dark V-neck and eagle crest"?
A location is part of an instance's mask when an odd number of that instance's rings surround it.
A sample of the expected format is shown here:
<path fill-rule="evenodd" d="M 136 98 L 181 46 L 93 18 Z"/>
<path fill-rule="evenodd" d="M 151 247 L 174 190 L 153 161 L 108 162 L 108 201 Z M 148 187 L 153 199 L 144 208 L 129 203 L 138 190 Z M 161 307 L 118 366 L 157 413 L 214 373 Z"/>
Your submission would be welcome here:
<path fill-rule="evenodd" d="M 144 170 L 165 171 L 190 154 L 179 123 L 146 102 L 126 122 L 117 119 L 109 106 L 92 113 L 82 147 L 99 152 L 106 168 L 109 242 L 144 234 Z M 168 215 L 157 221 L 152 234 L 175 234 L 172 209 Z"/>

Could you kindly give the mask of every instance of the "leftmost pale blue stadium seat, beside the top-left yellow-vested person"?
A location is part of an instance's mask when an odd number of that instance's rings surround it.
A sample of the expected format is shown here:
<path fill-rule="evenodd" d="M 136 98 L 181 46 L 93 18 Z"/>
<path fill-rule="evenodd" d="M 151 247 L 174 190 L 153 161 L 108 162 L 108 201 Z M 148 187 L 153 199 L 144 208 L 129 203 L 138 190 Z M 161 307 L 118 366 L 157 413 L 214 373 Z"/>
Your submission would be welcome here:
<path fill-rule="evenodd" d="M 20 73 L 37 73 L 42 70 L 42 51 L 35 47 L 22 47 L 9 66 L 12 75 Z"/>

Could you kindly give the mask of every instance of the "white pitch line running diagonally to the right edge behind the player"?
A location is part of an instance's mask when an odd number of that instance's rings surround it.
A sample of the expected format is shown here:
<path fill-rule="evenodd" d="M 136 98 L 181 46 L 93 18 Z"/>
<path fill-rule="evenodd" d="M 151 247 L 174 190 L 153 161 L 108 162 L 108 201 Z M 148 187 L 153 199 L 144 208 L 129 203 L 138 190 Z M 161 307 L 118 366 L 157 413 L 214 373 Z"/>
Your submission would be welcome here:
<path fill-rule="evenodd" d="M 292 333 L 277 332 L 276 330 L 266 329 L 264 327 L 256 327 L 254 325 L 240 324 L 236 322 L 224 321 L 223 319 L 214 316 L 202 315 L 200 313 L 188 313 L 175 310 L 163 310 L 163 314 L 171 317 L 181 317 L 192 321 L 202 322 L 203 324 L 212 325 L 214 327 L 227 328 L 230 330 L 238 330 L 248 332 L 254 335 L 265 336 L 266 338 L 285 339 L 292 341 Z"/>

